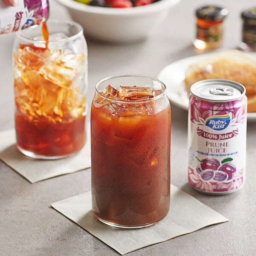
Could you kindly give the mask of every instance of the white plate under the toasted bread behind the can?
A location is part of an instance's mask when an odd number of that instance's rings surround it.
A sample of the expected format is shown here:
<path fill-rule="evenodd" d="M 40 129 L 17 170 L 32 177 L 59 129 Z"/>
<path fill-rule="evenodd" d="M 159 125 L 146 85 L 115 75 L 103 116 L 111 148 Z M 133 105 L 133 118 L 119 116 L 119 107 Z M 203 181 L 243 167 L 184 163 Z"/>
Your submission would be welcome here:
<path fill-rule="evenodd" d="M 189 98 L 185 89 L 185 71 L 190 64 L 201 61 L 206 56 L 214 53 L 195 55 L 175 61 L 165 67 L 157 76 L 167 87 L 167 96 L 174 105 L 188 110 Z M 247 113 L 248 121 L 256 121 L 256 113 Z"/>

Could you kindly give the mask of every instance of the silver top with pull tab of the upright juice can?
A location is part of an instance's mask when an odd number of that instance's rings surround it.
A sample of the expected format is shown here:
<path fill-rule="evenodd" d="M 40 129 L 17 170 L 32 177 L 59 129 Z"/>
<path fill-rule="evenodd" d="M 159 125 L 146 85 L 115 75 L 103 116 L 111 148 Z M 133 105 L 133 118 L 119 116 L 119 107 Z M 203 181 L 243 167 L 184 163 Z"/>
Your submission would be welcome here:
<path fill-rule="evenodd" d="M 206 79 L 190 88 L 192 95 L 211 102 L 229 102 L 245 95 L 245 87 L 227 79 Z"/>

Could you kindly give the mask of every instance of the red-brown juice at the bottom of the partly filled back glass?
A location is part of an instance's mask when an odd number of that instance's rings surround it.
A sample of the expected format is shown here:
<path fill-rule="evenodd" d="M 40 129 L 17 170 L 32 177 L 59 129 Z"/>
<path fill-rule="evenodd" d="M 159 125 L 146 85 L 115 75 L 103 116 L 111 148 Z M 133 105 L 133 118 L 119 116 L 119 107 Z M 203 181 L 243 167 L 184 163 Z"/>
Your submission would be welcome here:
<path fill-rule="evenodd" d="M 85 143 L 85 116 L 72 122 L 29 120 L 15 114 L 17 146 L 21 150 L 44 156 L 63 156 L 76 153 Z"/>

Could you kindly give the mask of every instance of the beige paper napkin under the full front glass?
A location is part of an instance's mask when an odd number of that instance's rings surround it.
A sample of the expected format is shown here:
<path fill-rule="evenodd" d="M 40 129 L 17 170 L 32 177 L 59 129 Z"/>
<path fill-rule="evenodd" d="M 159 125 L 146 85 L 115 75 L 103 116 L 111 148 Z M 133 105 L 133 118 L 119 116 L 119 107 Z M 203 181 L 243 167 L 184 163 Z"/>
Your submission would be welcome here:
<path fill-rule="evenodd" d="M 157 224 L 141 229 L 113 228 L 98 221 L 91 211 L 91 192 L 58 201 L 51 206 L 122 255 L 212 224 L 228 221 L 174 185 L 171 185 L 169 214 Z"/>

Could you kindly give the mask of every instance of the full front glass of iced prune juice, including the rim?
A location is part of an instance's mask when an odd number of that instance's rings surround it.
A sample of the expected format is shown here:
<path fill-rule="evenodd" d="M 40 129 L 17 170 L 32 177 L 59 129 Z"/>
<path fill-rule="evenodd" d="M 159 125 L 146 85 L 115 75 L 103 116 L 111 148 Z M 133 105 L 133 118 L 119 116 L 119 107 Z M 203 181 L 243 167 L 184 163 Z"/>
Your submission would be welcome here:
<path fill-rule="evenodd" d="M 163 219 L 170 203 L 171 108 L 166 86 L 140 75 L 99 81 L 91 105 L 92 209 L 113 227 Z"/>

